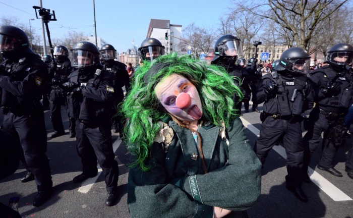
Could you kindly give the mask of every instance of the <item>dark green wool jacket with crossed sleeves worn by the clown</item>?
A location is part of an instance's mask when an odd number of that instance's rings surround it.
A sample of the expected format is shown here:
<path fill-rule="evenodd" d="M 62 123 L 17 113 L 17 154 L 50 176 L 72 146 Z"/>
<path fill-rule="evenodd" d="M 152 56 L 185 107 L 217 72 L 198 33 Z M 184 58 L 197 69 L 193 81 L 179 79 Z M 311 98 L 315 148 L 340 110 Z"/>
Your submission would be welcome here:
<path fill-rule="evenodd" d="M 190 130 L 170 121 L 174 136 L 164 151 L 151 149 L 151 170 L 129 172 L 128 205 L 131 217 L 213 217 L 213 207 L 234 210 L 226 217 L 245 217 L 261 193 L 261 162 L 255 155 L 239 118 L 226 128 L 199 129 L 207 174 Z M 198 139 L 199 140 L 199 139 Z M 195 158 L 195 154 L 197 157 Z"/>

